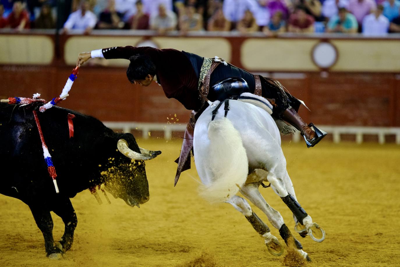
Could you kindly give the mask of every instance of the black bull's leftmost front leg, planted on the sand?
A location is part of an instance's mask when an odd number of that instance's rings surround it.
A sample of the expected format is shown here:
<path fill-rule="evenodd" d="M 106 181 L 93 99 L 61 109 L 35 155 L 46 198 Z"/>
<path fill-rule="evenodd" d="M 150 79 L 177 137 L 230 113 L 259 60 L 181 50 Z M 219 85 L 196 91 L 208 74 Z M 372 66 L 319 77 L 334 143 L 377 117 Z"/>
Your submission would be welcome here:
<path fill-rule="evenodd" d="M 62 251 L 54 246 L 53 239 L 53 219 L 51 218 L 50 211 L 45 211 L 39 205 L 30 205 L 32 215 L 42 231 L 44 237 L 44 247 L 46 248 L 46 256 L 52 259 L 62 258 Z"/>

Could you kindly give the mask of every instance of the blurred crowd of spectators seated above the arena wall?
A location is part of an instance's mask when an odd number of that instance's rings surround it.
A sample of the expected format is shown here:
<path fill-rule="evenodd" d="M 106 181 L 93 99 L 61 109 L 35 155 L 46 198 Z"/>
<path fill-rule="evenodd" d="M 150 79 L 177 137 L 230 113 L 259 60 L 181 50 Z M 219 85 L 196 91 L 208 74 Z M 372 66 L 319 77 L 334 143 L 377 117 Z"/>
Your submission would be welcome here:
<path fill-rule="evenodd" d="M 65 0 L 57 12 L 59 2 L 0 0 L 0 28 L 400 32 L 400 0 Z"/>

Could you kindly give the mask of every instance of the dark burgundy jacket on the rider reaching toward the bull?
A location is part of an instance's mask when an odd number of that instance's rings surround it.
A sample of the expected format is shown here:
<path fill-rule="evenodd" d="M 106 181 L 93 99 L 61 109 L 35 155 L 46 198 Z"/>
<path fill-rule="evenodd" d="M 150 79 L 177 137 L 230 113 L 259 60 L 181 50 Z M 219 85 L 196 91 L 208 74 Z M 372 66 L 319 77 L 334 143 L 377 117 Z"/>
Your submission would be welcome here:
<path fill-rule="evenodd" d="M 198 98 L 198 78 L 192 63 L 184 53 L 175 49 L 157 49 L 144 47 L 111 47 L 102 49 L 103 56 L 128 59 L 136 54 L 148 55 L 156 65 L 158 83 L 166 97 L 175 98 L 189 110 L 198 110 L 201 106 Z"/>

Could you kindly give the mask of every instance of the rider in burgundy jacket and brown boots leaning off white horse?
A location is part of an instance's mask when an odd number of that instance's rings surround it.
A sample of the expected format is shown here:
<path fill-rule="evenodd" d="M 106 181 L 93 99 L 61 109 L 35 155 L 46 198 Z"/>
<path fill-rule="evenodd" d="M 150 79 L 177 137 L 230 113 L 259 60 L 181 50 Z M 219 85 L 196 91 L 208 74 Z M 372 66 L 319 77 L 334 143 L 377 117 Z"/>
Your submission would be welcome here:
<path fill-rule="evenodd" d="M 297 111 L 302 102 L 285 92 L 278 81 L 253 75 L 218 57 L 203 58 L 175 49 L 125 46 L 80 53 L 77 66 L 90 58 L 130 60 L 126 75 L 131 83 L 148 86 L 154 80 L 162 86 L 167 98 L 175 98 L 185 108 L 193 110 L 186 127 L 180 157 L 176 160 L 178 170 L 175 184 L 180 173 L 190 169 L 196 119 L 215 100 L 221 101 L 250 92 L 268 99 L 274 106 L 272 116 L 299 130 L 308 147 L 314 147 L 326 135 L 312 123 L 307 125 L 300 118 Z"/>

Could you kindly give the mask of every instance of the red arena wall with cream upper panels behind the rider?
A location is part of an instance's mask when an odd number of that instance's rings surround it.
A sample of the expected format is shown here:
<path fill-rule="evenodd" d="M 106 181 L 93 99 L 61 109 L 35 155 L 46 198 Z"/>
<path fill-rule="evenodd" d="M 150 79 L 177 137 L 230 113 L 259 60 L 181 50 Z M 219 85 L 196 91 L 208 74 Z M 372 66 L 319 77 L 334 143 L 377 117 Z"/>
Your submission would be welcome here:
<path fill-rule="evenodd" d="M 14 34 L 2 32 L 0 40 L 1 38 L 9 40 L 10 36 L 12 37 Z M 30 36 L 45 36 L 50 42 L 55 42 L 54 35 L 51 34 L 26 34 L 22 36 L 27 38 Z M 24 62 L 22 59 L 20 62 L 10 64 L 10 61 L 7 61 L 6 55 L 0 55 L 0 97 L 32 96 L 35 92 L 40 92 L 42 97 L 46 99 L 58 96 L 70 71 L 74 67 L 73 56 L 77 56 L 78 52 L 103 47 L 103 44 L 100 43 L 94 44 L 92 48 L 75 47 L 72 49 L 71 46 L 74 46 L 74 42 L 68 42 L 68 40 L 71 38 L 90 37 L 98 38 L 99 36 L 61 36 L 59 49 L 54 46 L 54 51 L 50 51 L 54 55 L 48 63 L 32 63 L 29 62 L 30 58 L 26 57 L 28 58 L 27 62 Z M 100 37 L 106 38 L 109 36 L 101 35 Z M 198 38 L 204 40 L 204 37 L 192 36 L 183 39 L 176 36 L 166 36 L 163 39 L 153 37 L 151 35 L 137 35 L 134 37 L 119 36 L 118 38 L 120 39 L 116 38 L 113 45 L 128 45 L 126 43 L 129 42 L 124 40 L 124 38 L 133 38 L 134 42 L 132 41 L 131 45 L 136 45 L 138 40 L 148 40 L 151 42 L 154 39 L 153 43 L 159 48 L 166 48 L 164 47 L 165 45 L 178 38 L 181 43 L 178 42 L 176 44 L 177 49 L 184 50 L 182 47 L 189 46 L 185 48 L 188 52 L 210 56 L 208 54 L 201 54 L 202 47 L 193 47 L 194 51 L 190 50 L 190 45 L 192 45 L 190 42 L 192 40 L 196 41 Z M 210 39 L 214 40 L 212 36 Z M 343 61 L 348 59 L 344 59 L 342 55 L 346 54 L 347 50 L 344 50 L 344 48 L 341 50 L 341 47 L 346 47 L 346 42 L 360 42 L 363 46 L 368 47 L 369 42 L 378 41 L 384 45 L 392 45 L 392 39 L 375 40 L 358 38 L 354 40 L 353 38 L 344 40 L 320 37 L 301 39 L 298 37 L 260 38 L 253 36 L 252 38 L 243 38 L 228 36 L 218 38 L 217 41 L 227 46 L 227 48 L 224 48 L 223 51 L 221 50 L 222 52 L 219 51 L 219 53 L 224 53 L 224 51 L 228 50 L 226 57 L 230 59 L 232 64 L 246 67 L 252 72 L 276 78 L 291 94 L 304 100 L 311 112 L 308 112 L 305 108 L 301 108 L 299 113 L 306 121 L 313 121 L 316 124 L 324 125 L 400 126 L 400 76 L 398 74 L 398 60 L 396 58 L 390 59 L 390 55 L 386 56 L 383 54 L 378 61 L 385 62 L 386 60 L 389 63 L 379 64 L 378 62 L 371 64 L 368 61 L 369 59 L 365 57 L 360 58 L 357 64 L 350 61 L 349 63 Z M 315 45 L 314 43 L 328 41 L 335 44 L 338 48 L 338 59 L 332 67 L 320 68 L 316 64 L 313 65 L 311 58 L 312 51 L 306 56 L 302 55 L 307 60 L 310 58 L 311 63 L 303 60 L 304 64 L 302 63 L 302 65 L 296 63 L 298 59 L 294 59 L 292 65 L 289 64 L 290 62 L 280 63 L 279 58 L 274 59 L 272 55 L 268 54 L 268 51 L 266 52 L 267 54 L 257 51 L 254 53 L 260 54 L 260 60 L 266 58 L 265 64 L 261 62 L 260 65 L 260 62 L 254 62 L 254 68 L 251 66 L 249 68 L 248 65 L 252 64 L 252 61 L 247 60 L 243 55 L 248 54 L 246 49 L 250 49 L 248 46 L 253 45 L 250 44 L 251 42 L 254 42 L 254 45 L 257 46 L 260 41 L 266 43 L 286 42 L 290 45 L 292 42 L 298 42 L 299 46 L 304 46 L 301 48 L 304 51 L 309 49 L 309 47 L 312 49 Z M 398 44 L 398 40 L 396 41 L 395 43 Z M 186 44 L 186 42 L 189 42 L 189 44 Z M 388 43 L 386 44 L 386 42 Z M 251 49 L 255 46 L 252 46 Z M 104 47 L 107 46 L 105 45 Z M 12 48 L 7 49 L 12 50 Z M 40 53 L 41 48 L 38 47 L 37 49 L 37 52 Z M 77 51 L 71 52 L 71 49 Z M 275 47 L 274 49 L 277 48 Z M 278 54 L 281 52 L 277 51 Z M 47 54 L 44 53 L 44 55 L 46 56 Z M 39 61 L 45 56 L 39 57 Z M 370 59 L 374 60 L 374 57 Z M 393 63 L 392 66 L 387 66 L 390 64 L 390 60 L 396 63 Z M 103 121 L 167 122 L 167 117 L 169 118 L 176 114 L 178 122 L 187 122 L 190 111 L 186 110 L 177 100 L 167 99 L 160 86 L 152 84 L 148 87 L 140 87 L 130 84 L 125 75 L 126 66 L 124 67 L 124 64 L 127 63 L 126 61 L 102 66 L 104 62 L 100 62 L 95 66 L 85 65 L 79 71 L 78 80 L 76 80 L 72 87 L 70 97 L 62 103 L 62 106 L 90 114 Z M 354 64 L 351 70 L 346 69 L 349 64 Z M 376 70 L 369 69 L 368 64 L 376 66 Z M 274 71 L 274 65 L 277 66 L 276 71 Z M 265 66 L 265 68 L 257 69 L 260 68 L 259 66 Z M 290 69 L 291 66 L 293 66 L 292 69 Z M 301 70 L 302 66 L 304 66 L 303 71 Z"/>

